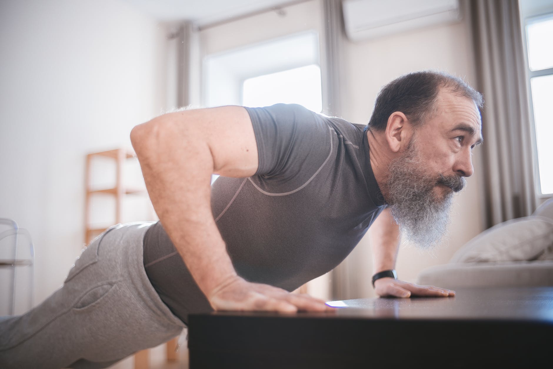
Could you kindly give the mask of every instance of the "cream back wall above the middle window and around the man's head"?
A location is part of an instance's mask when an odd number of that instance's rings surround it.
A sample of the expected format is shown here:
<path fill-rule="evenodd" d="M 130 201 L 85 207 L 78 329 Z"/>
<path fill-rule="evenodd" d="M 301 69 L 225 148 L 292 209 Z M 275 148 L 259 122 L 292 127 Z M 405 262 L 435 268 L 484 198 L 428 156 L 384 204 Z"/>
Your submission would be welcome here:
<path fill-rule="evenodd" d="M 319 1 L 296 4 L 284 10 L 287 12 L 285 17 L 268 12 L 202 31 L 204 53 L 220 53 L 306 29 L 319 30 L 320 39 L 324 42 Z M 356 123 L 366 124 L 379 89 L 401 74 L 421 69 L 440 69 L 464 77 L 473 85 L 475 82 L 471 33 L 465 21 L 357 44 L 346 41 L 344 53 L 342 117 Z M 473 164 L 474 175 L 468 178 L 467 189 L 457 196 L 452 209 L 448 241 L 433 255 L 402 247 L 397 263 L 401 279 L 414 281 L 426 266 L 447 263 L 461 245 L 484 229 L 479 149 L 474 152 Z M 353 290 L 357 290 L 356 294 L 348 298 L 374 295 L 371 262 L 371 250 L 366 237 L 348 259 L 348 267 L 356 270 L 352 283 L 356 284 Z"/>

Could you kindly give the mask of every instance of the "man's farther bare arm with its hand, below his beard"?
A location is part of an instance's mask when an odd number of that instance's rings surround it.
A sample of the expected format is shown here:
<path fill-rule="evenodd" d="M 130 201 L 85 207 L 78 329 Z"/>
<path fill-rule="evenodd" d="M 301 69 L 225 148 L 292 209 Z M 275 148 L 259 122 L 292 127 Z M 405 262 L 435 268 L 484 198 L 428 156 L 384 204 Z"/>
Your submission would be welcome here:
<path fill-rule="evenodd" d="M 373 274 L 379 271 L 395 269 L 398 257 L 399 226 L 395 223 L 390 209 L 384 209 L 369 229 L 369 239 L 373 250 Z M 419 286 L 391 277 L 374 281 L 374 291 L 379 296 L 454 296 L 455 291 L 435 286 Z"/>

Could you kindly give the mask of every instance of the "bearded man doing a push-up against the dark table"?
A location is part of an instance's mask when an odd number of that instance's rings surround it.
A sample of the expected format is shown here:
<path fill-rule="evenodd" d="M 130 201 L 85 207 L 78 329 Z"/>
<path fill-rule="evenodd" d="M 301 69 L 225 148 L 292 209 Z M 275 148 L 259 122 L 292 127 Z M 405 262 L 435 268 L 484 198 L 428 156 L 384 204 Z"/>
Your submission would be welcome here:
<path fill-rule="evenodd" d="M 482 142 L 478 107 L 462 80 L 424 71 L 385 86 L 367 127 L 283 104 L 135 127 L 160 222 L 108 229 L 63 288 L 3 321 L 1 366 L 106 367 L 175 336 L 191 312 L 331 310 L 289 291 L 334 268 L 372 223 L 378 295 L 453 295 L 392 269 L 399 229 L 420 247 L 445 232 Z"/>

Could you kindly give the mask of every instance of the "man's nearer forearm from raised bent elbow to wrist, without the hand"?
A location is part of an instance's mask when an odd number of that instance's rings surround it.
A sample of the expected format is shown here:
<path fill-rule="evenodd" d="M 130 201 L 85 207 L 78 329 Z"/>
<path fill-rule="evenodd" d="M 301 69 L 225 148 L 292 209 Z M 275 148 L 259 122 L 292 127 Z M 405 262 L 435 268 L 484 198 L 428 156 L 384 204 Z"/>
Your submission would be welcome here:
<path fill-rule="evenodd" d="M 193 129 L 183 136 L 168 119 L 171 117 L 160 117 L 136 127 L 131 135 L 133 147 L 163 227 L 208 295 L 236 275 L 211 213 L 213 158 Z"/>

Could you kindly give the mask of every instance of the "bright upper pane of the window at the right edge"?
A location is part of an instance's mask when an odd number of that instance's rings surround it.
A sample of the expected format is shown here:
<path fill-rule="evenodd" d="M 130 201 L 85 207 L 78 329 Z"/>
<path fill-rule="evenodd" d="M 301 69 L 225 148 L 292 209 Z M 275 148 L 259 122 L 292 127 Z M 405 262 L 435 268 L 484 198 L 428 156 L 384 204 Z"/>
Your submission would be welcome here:
<path fill-rule="evenodd" d="M 528 35 L 528 64 L 530 70 L 553 66 L 553 18 L 526 26 Z"/>

